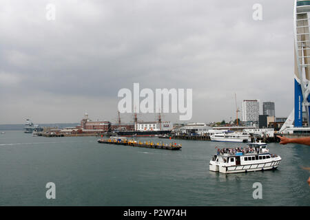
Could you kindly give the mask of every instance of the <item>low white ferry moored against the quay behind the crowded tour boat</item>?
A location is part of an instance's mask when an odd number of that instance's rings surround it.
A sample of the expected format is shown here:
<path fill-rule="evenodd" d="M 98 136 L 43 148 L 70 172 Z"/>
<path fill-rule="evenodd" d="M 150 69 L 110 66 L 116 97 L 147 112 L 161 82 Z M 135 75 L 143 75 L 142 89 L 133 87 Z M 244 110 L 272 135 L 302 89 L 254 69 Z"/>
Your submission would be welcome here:
<path fill-rule="evenodd" d="M 210 135 L 214 142 L 250 142 L 251 137 L 243 133 L 214 133 Z"/>

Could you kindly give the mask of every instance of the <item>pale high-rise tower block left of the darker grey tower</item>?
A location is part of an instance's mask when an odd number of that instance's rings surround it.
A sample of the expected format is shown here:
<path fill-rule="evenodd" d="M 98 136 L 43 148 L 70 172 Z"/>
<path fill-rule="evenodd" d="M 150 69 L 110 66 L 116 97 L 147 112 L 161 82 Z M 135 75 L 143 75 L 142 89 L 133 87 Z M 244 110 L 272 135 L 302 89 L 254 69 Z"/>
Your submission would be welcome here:
<path fill-rule="evenodd" d="M 260 115 L 259 100 L 242 101 L 242 122 L 245 122 L 245 126 L 258 124 L 259 115 Z"/>

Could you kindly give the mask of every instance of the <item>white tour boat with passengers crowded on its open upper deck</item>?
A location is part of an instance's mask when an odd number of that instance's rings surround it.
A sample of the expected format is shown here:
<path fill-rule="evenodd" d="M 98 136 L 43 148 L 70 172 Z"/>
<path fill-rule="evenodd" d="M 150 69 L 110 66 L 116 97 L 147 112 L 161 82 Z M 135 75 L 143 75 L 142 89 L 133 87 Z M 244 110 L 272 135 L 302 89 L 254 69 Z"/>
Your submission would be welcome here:
<path fill-rule="evenodd" d="M 246 148 L 218 148 L 218 154 L 212 155 L 209 170 L 220 173 L 242 173 L 248 171 L 276 169 L 279 155 L 269 153 L 267 144 L 255 142 Z"/>

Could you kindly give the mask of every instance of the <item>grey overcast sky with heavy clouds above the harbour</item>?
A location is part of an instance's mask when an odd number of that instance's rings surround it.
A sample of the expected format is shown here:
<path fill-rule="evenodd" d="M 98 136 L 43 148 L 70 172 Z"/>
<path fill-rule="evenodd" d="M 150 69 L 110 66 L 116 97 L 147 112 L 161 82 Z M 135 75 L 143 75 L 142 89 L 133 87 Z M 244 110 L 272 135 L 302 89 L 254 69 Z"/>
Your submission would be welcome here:
<path fill-rule="evenodd" d="M 118 90 L 133 83 L 193 89 L 192 122 L 234 119 L 234 93 L 240 108 L 271 100 L 287 117 L 293 0 L 0 1 L 0 124 L 79 122 L 85 111 L 114 122 Z"/>

